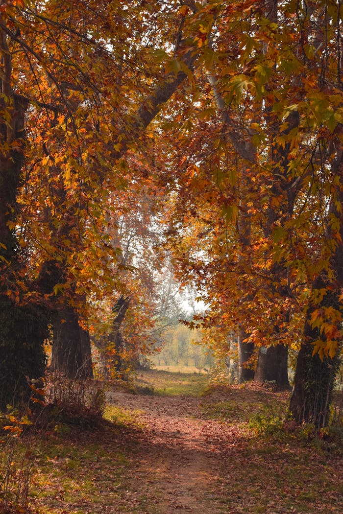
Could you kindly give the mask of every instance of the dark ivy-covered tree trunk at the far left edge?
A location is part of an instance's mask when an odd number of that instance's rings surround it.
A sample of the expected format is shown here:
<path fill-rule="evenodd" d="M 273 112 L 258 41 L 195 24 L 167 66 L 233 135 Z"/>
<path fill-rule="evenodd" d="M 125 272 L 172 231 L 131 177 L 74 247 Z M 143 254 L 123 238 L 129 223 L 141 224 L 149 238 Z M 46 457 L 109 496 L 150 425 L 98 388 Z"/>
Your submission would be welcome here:
<path fill-rule="evenodd" d="M 31 390 L 26 377 L 44 375 L 43 342 L 47 319 L 37 304 L 21 305 L 22 291 L 16 285 L 17 272 L 23 277 L 17 258 L 17 242 L 12 229 L 15 204 L 24 161 L 24 121 L 28 101 L 10 88 L 10 53 L 6 35 L 0 30 L 2 76 L 0 92 L 0 409 L 27 402 Z M 7 78 L 4 76 L 8 74 Z M 7 81 L 8 80 L 8 81 Z M 7 81 L 7 83 L 6 83 Z M 6 150 L 7 149 L 7 150 Z"/>

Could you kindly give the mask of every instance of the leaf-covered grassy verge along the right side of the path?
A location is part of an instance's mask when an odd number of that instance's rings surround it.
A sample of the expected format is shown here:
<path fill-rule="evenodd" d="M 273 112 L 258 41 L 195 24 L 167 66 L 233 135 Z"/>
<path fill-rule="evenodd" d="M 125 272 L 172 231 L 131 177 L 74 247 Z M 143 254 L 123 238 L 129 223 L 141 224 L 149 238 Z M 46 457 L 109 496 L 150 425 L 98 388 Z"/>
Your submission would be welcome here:
<path fill-rule="evenodd" d="M 343 512 L 343 432 L 295 427 L 288 396 L 247 384 L 204 398 L 203 417 L 232 430 L 219 484 L 224 512 Z"/>

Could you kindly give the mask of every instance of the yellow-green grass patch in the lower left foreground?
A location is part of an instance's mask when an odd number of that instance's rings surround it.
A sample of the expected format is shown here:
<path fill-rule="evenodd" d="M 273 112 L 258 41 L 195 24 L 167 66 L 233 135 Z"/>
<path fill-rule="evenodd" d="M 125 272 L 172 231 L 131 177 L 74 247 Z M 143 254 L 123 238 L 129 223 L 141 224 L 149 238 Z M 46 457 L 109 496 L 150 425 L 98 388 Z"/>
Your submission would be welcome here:
<path fill-rule="evenodd" d="M 37 444 L 31 504 L 39 514 L 101 512 L 124 501 L 130 469 L 127 449 L 115 443 L 116 429 L 50 435 Z M 81 507 L 83 506 L 83 507 Z"/>

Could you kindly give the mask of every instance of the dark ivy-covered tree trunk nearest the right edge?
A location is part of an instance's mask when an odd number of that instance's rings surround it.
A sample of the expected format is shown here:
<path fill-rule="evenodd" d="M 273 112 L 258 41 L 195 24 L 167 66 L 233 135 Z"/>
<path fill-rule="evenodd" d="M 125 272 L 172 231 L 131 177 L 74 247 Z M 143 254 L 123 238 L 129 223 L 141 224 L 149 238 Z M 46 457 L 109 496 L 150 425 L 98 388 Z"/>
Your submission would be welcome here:
<path fill-rule="evenodd" d="M 299 351 L 297 367 L 294 377 L 293 392 L 290 401 L 290 412 L 297 423 L 313 423 L 316 427 L 324 427 L 329 421 L 329 407 L 332 401 L 334 380 L 339 368 L 339 351 L 333 358 L 319 355 L 313 356 L 313 343 L 318 340 L 325 342 L 325 333 L 322 327 L 312 327 L 311 315 L 314 311 L 325 311 L 327 307 L 342 313 L 341 293 L 343 290 L 343 149 L 337 138 L 335 144 L 328 148 L 328 154 L 334 155 L 331 162 L 332 174 L 339 178 L 336 190 L 333 189 L 331 204 L 327 214 L 327 240 L 331 243 L 332 252 L 330 264 L 332 274 L 322 272 L 313 283 L 313 291 L 326 290 L 326 294 L 318 303 L 310 304 L 306 316 L 303 333 L 303 343 Z M 338 206 L 338 207 L 337 207 Z M 335 233 L 330 224 L 330 218 L 339 220 L 339 231 Z M 332 323 L 332 321 L 329 321 Z M 337 322 L 337 333 L 341 330 L 341 322 Z M 340 341 L 341 343 L 341 341 Z"/>

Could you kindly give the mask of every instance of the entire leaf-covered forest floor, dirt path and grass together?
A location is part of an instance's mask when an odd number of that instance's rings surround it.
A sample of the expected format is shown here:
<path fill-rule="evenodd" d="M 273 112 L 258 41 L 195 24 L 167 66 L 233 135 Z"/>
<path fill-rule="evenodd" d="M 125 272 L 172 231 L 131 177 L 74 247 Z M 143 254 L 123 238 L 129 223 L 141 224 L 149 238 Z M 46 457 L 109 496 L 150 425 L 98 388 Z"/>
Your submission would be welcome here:
<path fill-rule="evenodd" d="M 285 431 L 287 401 L 251 383 L 140 374 L 134 393 L 107 391 L 104 426 L 44 435 L 28 512 L 341 514 L 341 448 L 311 427 Z"/>

